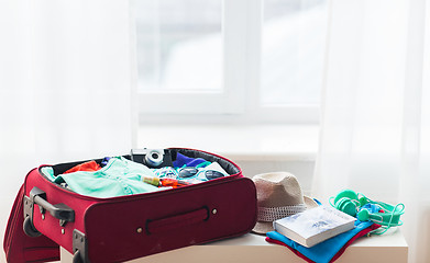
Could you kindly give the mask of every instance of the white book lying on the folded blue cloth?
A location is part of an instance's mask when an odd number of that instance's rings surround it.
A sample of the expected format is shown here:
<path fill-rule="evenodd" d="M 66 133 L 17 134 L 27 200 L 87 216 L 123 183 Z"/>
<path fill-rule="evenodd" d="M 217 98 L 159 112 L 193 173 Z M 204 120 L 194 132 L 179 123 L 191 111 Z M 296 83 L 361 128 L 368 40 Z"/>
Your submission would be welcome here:
<path fill-rule="evenodd" d="M 356 218 L 331 206 L 316 208 L 278 219 L 274 229 L 307 248 L 354 228 Z"/>

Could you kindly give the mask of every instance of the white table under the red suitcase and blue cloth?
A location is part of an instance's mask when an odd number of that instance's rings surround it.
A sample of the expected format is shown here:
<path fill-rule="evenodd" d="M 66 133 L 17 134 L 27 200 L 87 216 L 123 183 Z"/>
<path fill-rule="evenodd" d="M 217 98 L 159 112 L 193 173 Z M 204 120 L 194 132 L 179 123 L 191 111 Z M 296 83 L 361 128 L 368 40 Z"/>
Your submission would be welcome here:
<path fill-rule="evenodd" d="M 62 262 L 71 262 L 71 254 L 62 248 Z M 354 241 L 335 261 L 350 262 L 407 262 L 408 244 L 400 230 L 394 229 L 383 236 L 363 237 Z M 264 236 L 247 233 L 201 245 L 192 245 L 130 261 L 130 263 L 299 263 L 305 262 L 289 249 L 265 241 Z"/>

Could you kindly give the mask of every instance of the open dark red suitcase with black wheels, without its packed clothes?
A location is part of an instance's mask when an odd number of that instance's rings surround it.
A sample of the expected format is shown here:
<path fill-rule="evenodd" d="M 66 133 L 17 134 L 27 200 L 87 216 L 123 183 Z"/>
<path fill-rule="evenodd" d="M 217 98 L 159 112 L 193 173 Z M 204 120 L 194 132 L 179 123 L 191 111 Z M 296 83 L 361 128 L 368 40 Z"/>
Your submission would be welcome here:
<path fill-rule="evenodd" d="M 25 178 L 4 235 L 7 260 L 59 260 L 59 245 L 74 262 L 123 262 L 235 237 L 256 222 L 254 183 L 232 161 L 205 151 L 169 148 L 165 167 L 180 152 L 218 162 L 229 176 L 172 190 L 110 198 L 77 194 L 49 181 L 35 168 Z M 146 153 L 123 156 L 145 163 Z M 101 162 L 102 159 L 96 160 Z M 81 162 L 52 165 L 56 174 Z"/>

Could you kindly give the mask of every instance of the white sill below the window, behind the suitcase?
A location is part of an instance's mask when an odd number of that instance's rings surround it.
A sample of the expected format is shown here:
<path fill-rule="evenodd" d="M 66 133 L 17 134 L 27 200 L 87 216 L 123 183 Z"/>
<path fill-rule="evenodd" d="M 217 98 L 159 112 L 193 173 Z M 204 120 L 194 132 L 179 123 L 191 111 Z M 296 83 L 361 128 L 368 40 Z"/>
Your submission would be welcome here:
<path fill-rule="evenodd" d="M 200 149 L 234 161 L 315 161 L 317 125 L 148 125 L 139 147 Z"/>

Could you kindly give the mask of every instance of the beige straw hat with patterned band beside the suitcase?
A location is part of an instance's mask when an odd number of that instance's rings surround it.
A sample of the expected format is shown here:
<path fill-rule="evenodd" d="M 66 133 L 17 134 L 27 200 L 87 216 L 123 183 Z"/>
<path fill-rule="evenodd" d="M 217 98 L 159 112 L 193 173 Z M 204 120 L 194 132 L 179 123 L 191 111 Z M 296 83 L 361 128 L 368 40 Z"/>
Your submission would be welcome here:
<path fill-rule="evenodd" d="M 317 207 L 312 198 L 304 196 L 297 178 L 288 172 L 257 174 L 252 179 L 257 191 L 256 233 L 273 231 L 273 221 Z"/>

